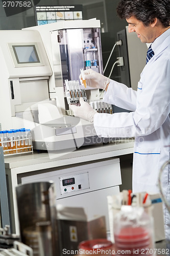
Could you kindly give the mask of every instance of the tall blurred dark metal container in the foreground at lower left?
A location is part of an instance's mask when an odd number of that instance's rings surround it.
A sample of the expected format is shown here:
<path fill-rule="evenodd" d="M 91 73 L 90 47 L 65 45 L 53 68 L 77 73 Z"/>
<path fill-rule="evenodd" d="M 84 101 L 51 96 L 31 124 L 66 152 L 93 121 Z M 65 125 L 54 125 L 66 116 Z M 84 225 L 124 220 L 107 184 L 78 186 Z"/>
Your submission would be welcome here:
<path fill-rule="evenodd" d="M 56 195 L 53 182 L 16 187 L 21 241 L 34 256 L 59 255 Z"/>

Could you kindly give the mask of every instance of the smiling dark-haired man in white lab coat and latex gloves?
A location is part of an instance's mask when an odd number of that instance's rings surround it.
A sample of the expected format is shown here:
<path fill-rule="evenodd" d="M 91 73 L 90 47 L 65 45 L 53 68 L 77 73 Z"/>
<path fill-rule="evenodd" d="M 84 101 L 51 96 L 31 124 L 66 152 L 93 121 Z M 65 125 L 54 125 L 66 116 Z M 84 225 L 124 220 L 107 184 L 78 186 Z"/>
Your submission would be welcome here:
<path fill-rule="evenodd" d="M 151 43 L 138 82 L 137 91 L 110 80 L 91 69 L 85 71 L 90 87 L 105 90 L 103 101 L 130 113 L 96 113 L 80 99 L 80 106 L 72 105 L 75 116 L 94 123 L 102 137 L 135 137 L 133 159 L 133 192 L 157 193 L 158 173 L 169 160 L 170 145 L 170 2 L 169 0 L 120 0 L 117 14 L 129 24 L 129 32 L 144 43 Z M 134 49 L 135 51 L 135 49 Z M 81 77 L 80 77 L 81 78 Z M 170 172 L 163 176 L 163 193 L 170 202 Z M 170 240 L 170 216 L 164 208 L 165 235 Z"/>

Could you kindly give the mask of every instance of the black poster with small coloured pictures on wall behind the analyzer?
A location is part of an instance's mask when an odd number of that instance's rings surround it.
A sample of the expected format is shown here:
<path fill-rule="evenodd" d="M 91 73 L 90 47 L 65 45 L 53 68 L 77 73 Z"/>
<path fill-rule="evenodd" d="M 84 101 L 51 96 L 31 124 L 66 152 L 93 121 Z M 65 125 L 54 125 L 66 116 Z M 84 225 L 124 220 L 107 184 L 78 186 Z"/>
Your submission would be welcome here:
<path fill-rule="evenodd" d="M 83 5 L 35 6 L 36 25 L 44 25 L 62 20 L 83 19 Z"/>

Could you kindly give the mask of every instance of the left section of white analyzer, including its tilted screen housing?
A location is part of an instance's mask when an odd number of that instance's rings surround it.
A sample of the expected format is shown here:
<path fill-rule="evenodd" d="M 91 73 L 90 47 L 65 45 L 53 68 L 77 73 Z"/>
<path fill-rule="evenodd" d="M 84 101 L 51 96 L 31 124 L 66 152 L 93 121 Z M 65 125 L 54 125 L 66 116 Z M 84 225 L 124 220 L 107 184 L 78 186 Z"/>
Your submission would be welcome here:
<path fill-rule="evenodd" d="M 0 37 L 2 130 L 20 129 L 25 123 L 16 118 L 18 113 L 31 112 L 38 102 L 49 101 L 52 69 L 38 31 L 1 30 Z M 33 124 L 27 127 L 32 129 Z"/>

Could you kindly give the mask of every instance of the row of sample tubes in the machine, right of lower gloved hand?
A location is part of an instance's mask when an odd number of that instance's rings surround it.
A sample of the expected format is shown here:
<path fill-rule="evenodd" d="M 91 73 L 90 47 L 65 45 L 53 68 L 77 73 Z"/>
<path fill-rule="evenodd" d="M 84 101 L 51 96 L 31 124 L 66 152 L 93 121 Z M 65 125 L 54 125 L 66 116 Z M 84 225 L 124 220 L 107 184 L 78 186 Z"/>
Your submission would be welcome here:
<path fill-rule="evenodd" d="M 113 114 L 112 105 L 101 100 L 90 101 L 91 107 L 98 113 Z"/>

